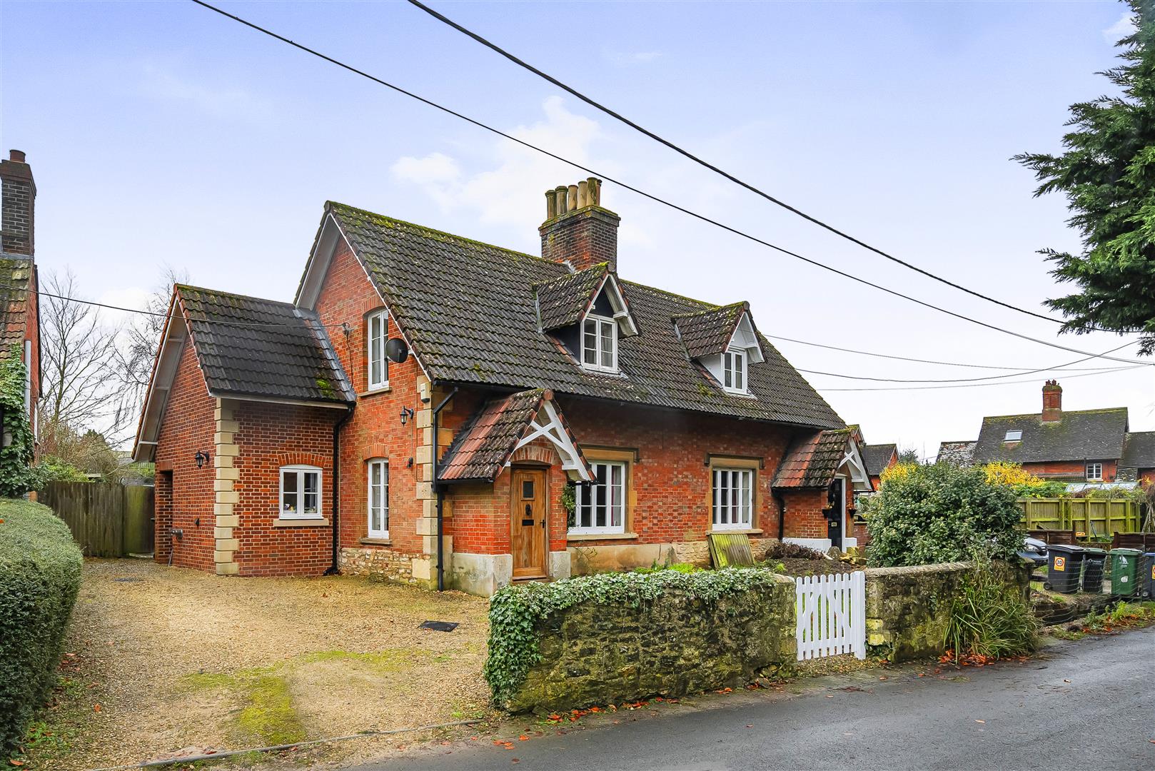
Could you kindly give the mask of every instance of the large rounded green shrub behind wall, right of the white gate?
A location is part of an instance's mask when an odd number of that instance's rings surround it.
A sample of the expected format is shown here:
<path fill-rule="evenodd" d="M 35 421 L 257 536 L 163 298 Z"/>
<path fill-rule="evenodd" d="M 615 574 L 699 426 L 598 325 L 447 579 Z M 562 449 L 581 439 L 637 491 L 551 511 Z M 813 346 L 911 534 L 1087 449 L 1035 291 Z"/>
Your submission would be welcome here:
<path fill-rule="evenodd" d="M 866 526 L 870 564 L 962 562 L 976 550 L 1011 558 L 1022 543 L 1015 492 L 982 468 L 914 466 L 873 496 Z"/>

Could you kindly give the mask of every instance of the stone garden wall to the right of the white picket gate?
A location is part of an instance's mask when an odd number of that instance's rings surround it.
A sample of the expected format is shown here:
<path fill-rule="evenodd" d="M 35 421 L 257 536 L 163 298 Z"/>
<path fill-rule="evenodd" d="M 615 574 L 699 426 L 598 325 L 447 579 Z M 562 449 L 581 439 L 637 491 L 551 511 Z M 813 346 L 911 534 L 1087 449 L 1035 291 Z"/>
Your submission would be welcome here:
<path fill-rule="evenodd" d="M 961 591 L 969 562 L 866 570 L 866 645 L 892 661 L 942 653 L 951 598 Z M 1026 598 L 1030 565 L 996 563 Z"/>

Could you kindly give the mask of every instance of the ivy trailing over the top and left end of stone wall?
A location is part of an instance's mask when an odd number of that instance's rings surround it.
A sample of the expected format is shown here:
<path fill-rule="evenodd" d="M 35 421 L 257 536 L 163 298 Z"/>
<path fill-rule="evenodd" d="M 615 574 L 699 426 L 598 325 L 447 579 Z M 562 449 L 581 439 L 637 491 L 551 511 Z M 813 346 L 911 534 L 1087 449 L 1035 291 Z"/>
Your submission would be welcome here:
<path fill-rule="evenodd" d="M 537 624 L 551 613 L 580 602 L 632 608 L 678 591 L 706 603 L 753 588 L 770 587 L 774 574 L 755 568 L 681 572 L 599 573 L 551 584 L 506 586 L 490 599 L 490 654 L 483 674 L 495 704 L 509 702 L 541 660 Z"/>

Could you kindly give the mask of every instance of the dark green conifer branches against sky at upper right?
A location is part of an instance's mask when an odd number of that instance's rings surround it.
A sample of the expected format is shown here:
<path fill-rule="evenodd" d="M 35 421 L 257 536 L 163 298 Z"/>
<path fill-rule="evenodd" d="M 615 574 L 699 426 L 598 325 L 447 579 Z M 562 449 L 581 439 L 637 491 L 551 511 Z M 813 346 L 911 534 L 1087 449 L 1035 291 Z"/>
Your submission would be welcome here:
<path fill-rule="evenodd" d="M 1130 0 L 1137 31 L 1119 42 L 1124 64 L 1102 73 L 1118 92 L 1071 105 L 1061 155 L 1024 153 L 1019 161 L 1042 183 L 1036 195 L 1067 197 L 1070 223 L 1082 237 L 1074 254 L 1053 249 L 1059 281 L 1079 292 L 1048 301 L 1064 331 L 1141 332 L 1155 350 L 1155 1 Z"/>

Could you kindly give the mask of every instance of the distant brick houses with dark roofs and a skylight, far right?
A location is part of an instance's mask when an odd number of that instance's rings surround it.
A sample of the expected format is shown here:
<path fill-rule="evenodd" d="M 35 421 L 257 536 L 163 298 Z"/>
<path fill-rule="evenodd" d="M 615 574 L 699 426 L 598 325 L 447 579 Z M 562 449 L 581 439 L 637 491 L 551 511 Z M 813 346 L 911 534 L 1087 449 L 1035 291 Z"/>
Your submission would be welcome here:
<path fill-rule="evenodd" d="M 1155 431 L 1130 430 L 1126 407 L 1063 409 L 1063 387 L 1043 386 L 1043 408 L 984 417 L 973 443 L 944 442 L 940 461 L 1007 461 L 1043 479 L 1080 483 L 1155 480 Z"/>

